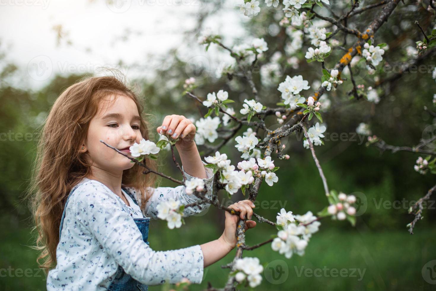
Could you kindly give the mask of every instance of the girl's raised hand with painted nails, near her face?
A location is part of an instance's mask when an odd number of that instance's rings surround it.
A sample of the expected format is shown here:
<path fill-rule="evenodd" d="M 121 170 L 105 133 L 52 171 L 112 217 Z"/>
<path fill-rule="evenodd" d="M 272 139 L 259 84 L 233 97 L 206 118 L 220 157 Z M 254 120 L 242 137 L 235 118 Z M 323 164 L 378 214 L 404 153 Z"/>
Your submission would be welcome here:
<path fill-rule="evenodd" d="M 183 115 L 167 115 L 162 122 L 160 127 L 157 127 L 157 132 L 159 134 L 168 134 L 172 138 L 176 139 L 180 137 L 177 141 L 176 146 L 181 148 L 189 148 L 194 143 L 195 137 L 195 125 L 191 120 L 187 119 Z"/>

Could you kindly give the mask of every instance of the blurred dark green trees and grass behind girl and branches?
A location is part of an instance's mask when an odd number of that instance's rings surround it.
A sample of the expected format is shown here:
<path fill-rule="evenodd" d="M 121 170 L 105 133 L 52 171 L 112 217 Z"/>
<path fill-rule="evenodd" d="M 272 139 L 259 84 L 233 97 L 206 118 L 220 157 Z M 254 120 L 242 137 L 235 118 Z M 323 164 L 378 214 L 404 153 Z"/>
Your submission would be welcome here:
<path fill-rule="evenodd" d="M 407 9 L 407 6 L 399 9 Z M 389 18 L 389 23 L 378 32 L 378 43 L 386 42 L 390 47 L 384 55 L 385 62 L 395 64 L 408 60 L 406 46 L 414 45 L 413 41 L 418 41 L 422 35 L 413 25 L 395 24 L 404 20 L 413 24 L 415 19 L 421 19 L 422 26 L 428 27 L 434 20 L 428 15 L 422 17 L 420 11 L 411 9 L 408 14 L 396 11 Z M 373 16 L 369 14 L 365 19 L 373 19 Z M 249 34 L 264 37 L 268 42 L 269 51 L 265 53 L 264 59 L 259 60 L 261 64 L 267 63 L 275 51 L 285 55 L 284 47 L 288 38 L 283 28 L 279 28 L 278 34 L 271 35 L 270 24 L 273 22 L 277 20 L 268 11 L 262 11 L 256 20 L 244 24 Z M 192 36 L 187 37 L 187 41 L 193 42 L 193 39 Z M 351 41 L 348 45 L 350 44 Z M 303 57 L 305 51 L 302 49 L 295 54 L 303 60 L 300 61 L 300 67 L 296 69 L 288 65 L 285 67 L 285 75 L 301 74 L 312 84 L 314 80 L 320 79 L 320 64 L 308 65 Z M 342 53 L 332 53 L 326 62 L 327 68 L 332 68 Z M 425 62 L 429 72 L 434 67 L 434 61 L 433 57 Z M 160 125 L 164 116 L 170 114 L 181 114 L 195 120 L 203 116 L 207 110 L 188 96 L 182 96 L 184 80 L 193 76 L 193 72 L 187 62 L 179 58 L 177 50 L 169 51 L 165 58 L 155 59 L 154 62 L 165 65 L 150 68 L 156 74 L 153 79 L 133 79 L 140 88 L 141 96 L 146 99 L 145 112 L 152 114 L 149 118 L 153 128 Z M 286 58 L 282 58 L 281 62 L 286 64 Z M 142 61 L 138 66 L 141 65 L 146 68 L 147 62 Z M 134 68 L 134 65 L 130 66 Z M 4 233 L 0 241 L 0 290 L 36 291 L 45 290 L 45 275 L 37 270 L 37 252 L 30 248 L 35 243 L 36 233 L 30 232 L 33 221 L 27 201 L 23 200 L 36 152 L 36 130 L 44 122 L 59 94 L 82 75 L 55 75 L 40 89 L 26 89 L 17 84 L 28 76 L 17 74 L 17 70 L 17 66 L 7 60 L 7 51 L 0 42 L 0 133 L 3 134 L 0 143 L 0 223 Z M 201 76 L 199 87 L 194 91 L 196 95 L 204 98 L 208 92 L 227 90 L 229 99 L 236 101 L 234 108 L 239 114 L 242 101 L 249 98 L 250 89 L 245 82 L 225 76 Z M 358 83 L 374 85 L 374 76 L 362 72 L 359 76 Z M 379 74 L 381 79 L 387 76 L 385 72 Z M 284 78 L 280 77 L 279 82 Z M 254 79 L 256 84 L 261 83 L 259 74 L 254 74 Z M 259 85 L 263 105 L 276 106 L 281 101 L 277 85 Z M 344 82 L 343 88 L 329 92 L 332 106 L 323 113 L 327 132 L 345 133 L 352 137 L 358 124 L 365 122 L 371 126 L 373 134 L 388 144 L 416 145 L 425 128 L 436 123 L 433 116 L 423 110 L 423 106 L 433 108 L 435 85 L 431 73 L 406 74 L 400 81 L 382 88 L 383 91 L 379 93 L 384 93 L 384 96 L 375 105 L 364 99 L 349 100 L 346 92 L 351 87 L 349 82 Z M 312 92 L 311 90 L 309 91 Z M 313 121 L 315 120 L 310 125 Z M 266 123 L 276 127 L 276 117 L 269 116 Z M 242 135 L 245 130 L 243 127 L 238 135 Z M 262 137 L 262 133 L 259 137 Z M 270 244 L 244 251 L 244 256 L 259 257 L 262 264 L 269 264 L 262 274 L 262 284 L 258 290 L 436 289 L 435 284 L 428 282 L 428 276 L 436 275 L 436 261 L 431 265 L 431 261 L 436 260 L 435 196 L 427 204 L 431 207 L 424 210 L 424 218 L 416 224 L 415 234 L 410 235 L 406 228 L 413 219 L 408 214 L 409 207 L 435 185 L 434 175 L 420 175 L 414 171 L 413 166 L 420 154 L 380 153 L 374 147 L 365 146 L 366 137 L 356 138 L 357 140 L 346 141 L 324 139 L 324 146 L 315 147 L 330 189 L 346 194 L 363 193 L 359 196 L 359 207 L 366 210 L 357 217 L 356 226 L 352 227 L 346 221 L 331 221 L 328 218 L 321 220 L 319 232 L 313 234 L 302 257 L 294 254 L 292 258 L 286 259 L 272 251 Z M 215 143 L 218 142 L 219 140 Z M 316 214 L 328 204 L 317 168 L 310 151 L 303 148 L 301 135 L 293 134 L 283 143 L 286 144 L 284 153 L 289 154 L 290 159 L 278 160 L 273 154 L 276 166 L 280 167 L 276 172 L 279 181 L 273 187 L 262 184 L 258 201 L 264 201 L 264 204 L 258 204 L 255 209 L 255 212 L 273 221 L 281 207 L 294 214 L 304 214 L 309 210 Z M 241 158 L 234 145 L 232 139 L 221 152 L 228 154 L 233 164 L 237 164 Z M 199 149 L 204 153 L 204 147 L 199 146 Z M 178 175 L 170 156 L 160 155 L 160 165 L 162 171 Z M 167 181 L 161 181 L 160 185 L 174 186 Z M 241 199 L 244 199 L 241 193 L 232 196 L 232 202 Z M 219 200 L 227 203 L 227 194 L 221 191 Z M 153 250 L 171 250 L 215 240 L 224 229 L 223 223 L 224 213 L 214 207 L 199 216 L 186 219 L 186 225 L 180 229 L 170 230 L 165 222 L 153 220 L 150 225 L 150 246 Z M 246 233 L 246 242 L 254 245 L 268 240 L 275 233 L 273 227 L 258 223 L 255 229 Z M 189 289 L 202 290 L 208 282 L 216 288 L 223 287 L 227 281 L 228 269 L 221 266 L 230 262 L 234 256 L 235 250 L 205 268 L 203 283 L 191 285 Z M 431 273 L 427 269 L 429 265 L 426 265 L 429 262 Z M 24 274 L 26 270 L 27 275 Z M 341 270 L 344 275 L 334 277 L 337 274 L 335 272 Z M 149 286 L 150 291 L 162 288 L 166 287 Z"/>

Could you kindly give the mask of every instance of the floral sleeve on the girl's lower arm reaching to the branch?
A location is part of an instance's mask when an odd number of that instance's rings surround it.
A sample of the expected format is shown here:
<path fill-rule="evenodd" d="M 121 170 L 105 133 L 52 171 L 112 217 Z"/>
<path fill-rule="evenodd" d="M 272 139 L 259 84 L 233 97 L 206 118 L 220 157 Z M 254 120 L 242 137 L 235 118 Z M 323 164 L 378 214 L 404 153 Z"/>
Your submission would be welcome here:
<path fill-rule="evenodd" d="M 96 182 L 94 182 L 96 183 Z M 201 283 L 203 252 L 200 245 L 169 251 L 154 251 L 128 212 L 119 207 L 119 199 L 94 184 L 80 198 L 72 199 L 75 218 L 92 233 L 105 252 L 143 284 L 177 283 L 184 277 Z M 109 193 L 110 194 L 110 193 Z"/>

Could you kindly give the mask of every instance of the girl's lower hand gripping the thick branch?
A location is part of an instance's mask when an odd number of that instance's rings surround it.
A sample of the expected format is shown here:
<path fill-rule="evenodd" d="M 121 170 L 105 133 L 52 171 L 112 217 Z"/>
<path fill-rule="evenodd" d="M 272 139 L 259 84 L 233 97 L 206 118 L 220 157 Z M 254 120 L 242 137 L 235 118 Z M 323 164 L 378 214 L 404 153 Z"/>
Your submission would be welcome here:
<path fill-rule="evenodd" d="M 220 239 L 228 244 L 232 249 L 236 246 L 238 242 L 236 238 L 236 227 L 238 226 L 238 222 L 240 219 L 251 219 L 253 215 L 253 209 L 255 208 L 254 203 L 249 200 L 242 200 L 230 205 L 228 208 L 234 209 L 235 211 L 241 212 L 239 216 L 235 214 L 231 214 L 228 211 L 225 211 L 225 229 L 224 233 L 221 235 Z M 245 221 L 245 230 L 249 228 L 253 228 L 256 226 L 256 222 L 253 220 Z"/>

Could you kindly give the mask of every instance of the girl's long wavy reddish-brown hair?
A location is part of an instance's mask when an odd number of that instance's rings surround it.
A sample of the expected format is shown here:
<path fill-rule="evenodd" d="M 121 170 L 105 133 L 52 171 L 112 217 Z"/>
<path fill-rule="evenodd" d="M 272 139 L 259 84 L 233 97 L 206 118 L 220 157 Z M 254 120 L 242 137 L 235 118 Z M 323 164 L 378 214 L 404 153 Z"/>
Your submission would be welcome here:
<path fill-rule="evenodd" d="M 31 201 L 34 228 L 37 229 L 36 246 L 41 253 L 37 263 L 45 272 L 54 268 L 59 243 L 59 226 L 68 194 L 72 187 L 91 173 L 88 153 L 79 149 L 86 139 L 89 122 L 98 111 L 100 100 L 112 94 L 131 98 L 141 116 L 140 131 L 149 139 L 149 124 L 143 118 L 143 106 L 134 89 L 123 77 L 85 77 L 69 86 L 56 99 L 45 123 L 40 128 L 37 157 L 33 165 L 31 185 L 27 198 Z M 149 115 L 149 114 L 146 114 Z M 156 170 L 156 161 L 146 159 Z M 135 164 L 123 171 L 122 184 L 141 190 L 141 209 L 152 193 L 148 188 L 156 181 L 155 175 L 143 175 L 143 168 Z M 146 191 L 147 190 L 147 191 Z"/>

